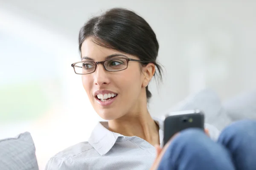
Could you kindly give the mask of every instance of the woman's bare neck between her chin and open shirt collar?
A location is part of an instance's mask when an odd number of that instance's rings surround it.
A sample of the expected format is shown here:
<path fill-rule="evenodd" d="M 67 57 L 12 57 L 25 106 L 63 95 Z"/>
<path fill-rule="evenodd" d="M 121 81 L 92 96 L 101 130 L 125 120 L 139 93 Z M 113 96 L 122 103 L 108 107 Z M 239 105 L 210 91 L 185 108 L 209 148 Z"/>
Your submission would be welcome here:
<path fill-rule="evenodd" d="M 147 108 L 145 106 L 145 108 Z M 159 127 L 148 110 L 139 109 L 125 116 L 108 121 L 109 130 L 124 136 L 138 136 L 152 145 L 160 144 Z"/>

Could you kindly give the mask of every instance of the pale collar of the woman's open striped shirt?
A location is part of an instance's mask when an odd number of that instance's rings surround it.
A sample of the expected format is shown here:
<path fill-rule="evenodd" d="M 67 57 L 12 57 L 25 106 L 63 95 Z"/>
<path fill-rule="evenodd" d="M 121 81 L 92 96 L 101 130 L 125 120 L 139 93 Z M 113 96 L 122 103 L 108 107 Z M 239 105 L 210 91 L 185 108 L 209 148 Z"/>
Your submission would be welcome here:
<path fill-rule="evenodd" d="M 163 122 L 153 118 L 159 126 L 160 145 L 163 143 Z M 108 122 L 99 122 L 93 129 L 88 142 L 100 154 L 105 155 L 116 143 L 118 137 L 125 137 L 119 133 L 108 130 Z"/>

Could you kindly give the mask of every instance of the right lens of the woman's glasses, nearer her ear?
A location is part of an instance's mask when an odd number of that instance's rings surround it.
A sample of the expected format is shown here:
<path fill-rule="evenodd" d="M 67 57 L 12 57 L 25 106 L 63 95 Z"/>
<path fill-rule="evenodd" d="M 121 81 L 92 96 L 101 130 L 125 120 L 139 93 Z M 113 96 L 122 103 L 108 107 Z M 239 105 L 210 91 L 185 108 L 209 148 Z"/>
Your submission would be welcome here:
<path fill-rule="evenodd" d="M 105 61 L 104 65 L 108 71 L 120 71 L 127 68 L 127 60 L 121 58 L 109 59 Z"/>

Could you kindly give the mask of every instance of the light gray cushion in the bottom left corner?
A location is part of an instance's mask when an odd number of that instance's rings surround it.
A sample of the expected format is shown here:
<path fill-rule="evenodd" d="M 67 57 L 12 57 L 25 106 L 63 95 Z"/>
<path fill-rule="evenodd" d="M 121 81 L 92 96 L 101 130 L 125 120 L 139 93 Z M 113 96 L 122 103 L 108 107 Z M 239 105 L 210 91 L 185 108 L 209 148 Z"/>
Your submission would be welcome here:
<path fill-rule="evenodd" d="M 35 145 L 29 132 L 0 140 L 0 170 L 38 170 Z"/>

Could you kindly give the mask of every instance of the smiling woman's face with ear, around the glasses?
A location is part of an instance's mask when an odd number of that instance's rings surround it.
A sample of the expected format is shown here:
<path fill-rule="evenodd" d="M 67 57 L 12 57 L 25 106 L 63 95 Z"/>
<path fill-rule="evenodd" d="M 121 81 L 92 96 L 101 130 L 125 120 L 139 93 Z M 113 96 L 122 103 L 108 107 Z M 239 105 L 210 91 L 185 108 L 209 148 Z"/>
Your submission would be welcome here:
<path fill-rule="evenodd" d="M 90 38 L 84 40 L 81 46 L 81 57 L 89 57 L 95 62 L 104 61 L 106 57 L 113 54 L 138 59 L 135 56 L 99 46 Z M 90 59 L 82 60 L 91 61 Z M 147 67 L 148 65 L 145 66 Z M 143 71 L 145 68 L 143 67 Z M 152 69 L 154 70 L 153 67 Z M 82 75 L 82 83 L 99 116 L 105 120 L 112 120 L 127 113 L 136 112 L 139 105 L 146 102 L 145 87 L 152 77 L 148 75 L 150 74 L 147 74 L 147 71 L 142 73 L 139 62 L 130 61 L 127 69 L 116 72 L 105 71 L 103 65 L 98 64 L 94 73 Z"/>

